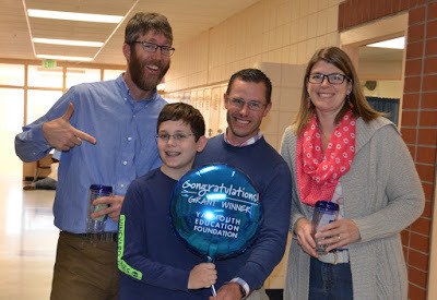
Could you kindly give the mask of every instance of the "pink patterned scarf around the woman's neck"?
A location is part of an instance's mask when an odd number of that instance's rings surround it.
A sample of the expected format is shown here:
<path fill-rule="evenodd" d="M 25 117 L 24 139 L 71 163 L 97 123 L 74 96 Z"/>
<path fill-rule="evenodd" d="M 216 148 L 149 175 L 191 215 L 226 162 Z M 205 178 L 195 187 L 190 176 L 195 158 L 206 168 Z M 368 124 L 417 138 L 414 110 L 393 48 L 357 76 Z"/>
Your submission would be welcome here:
<path fill-rule="evenodd" d="M 341 176 L 351 168 L 355 156 L 355 118 L 349 111 L 335 128 L 323 156 L 316 113 L 297 139 L 297 187 L 303 203 L 331 201 Z"/>

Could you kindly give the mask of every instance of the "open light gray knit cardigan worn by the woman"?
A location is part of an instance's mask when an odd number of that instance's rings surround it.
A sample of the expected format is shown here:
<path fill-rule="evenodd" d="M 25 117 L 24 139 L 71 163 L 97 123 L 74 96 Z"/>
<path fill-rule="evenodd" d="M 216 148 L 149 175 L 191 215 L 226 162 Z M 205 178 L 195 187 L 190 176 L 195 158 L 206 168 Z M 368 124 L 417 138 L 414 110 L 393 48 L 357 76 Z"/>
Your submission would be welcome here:
<path fill-rule="evenodd" d="M 309 259 L 293 231 L 308 218 L 296 182 L 296 139 L 285 130 L 281 155 L 292 171 L 293 236 L 284 299 L 308 299 Z M 355 158 L 341 178 L 345 218 L 356 223 L 361 240 L 349 244 L 354 299 L 406 299 L 406 266 L 400 231 L 418 218 L 425 199 L 417 171 L 399 131 L 386 118 L 356 121 Z"/>

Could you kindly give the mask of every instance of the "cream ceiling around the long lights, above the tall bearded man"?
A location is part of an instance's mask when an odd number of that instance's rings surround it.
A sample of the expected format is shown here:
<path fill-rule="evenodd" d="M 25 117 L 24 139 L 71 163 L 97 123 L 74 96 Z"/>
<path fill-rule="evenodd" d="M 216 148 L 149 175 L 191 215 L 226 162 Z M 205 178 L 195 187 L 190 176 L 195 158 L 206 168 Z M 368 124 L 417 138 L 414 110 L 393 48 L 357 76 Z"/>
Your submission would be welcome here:
<path fill-rule="evenodd" d="M 35 55 L 94 57 L 94 63 L 125 64 L 126 23 L 135 12 L 160 12 L 173 27 L 177 48 L 258 0 L 0 0 L 0 58 Z M 26 9 L 125 16 L 120 24 L 27 17 Z M 27 23 L 28 20 L 28 23 Z M 103 41 L 99 47 L 34 44 L 32 37 Z"/>

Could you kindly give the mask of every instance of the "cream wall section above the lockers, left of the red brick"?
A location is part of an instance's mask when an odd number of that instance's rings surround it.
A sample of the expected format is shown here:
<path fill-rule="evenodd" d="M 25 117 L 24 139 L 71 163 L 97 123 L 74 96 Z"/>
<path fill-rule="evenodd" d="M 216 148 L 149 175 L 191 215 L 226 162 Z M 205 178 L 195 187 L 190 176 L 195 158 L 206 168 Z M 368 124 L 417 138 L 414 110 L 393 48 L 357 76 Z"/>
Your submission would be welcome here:
<path fill-rule="evenodd" d="M 306 64 L 339 46 L 341 0 L 262 0 L 178 47 L 166 93 L 227 82 L 260 62 Z"/>

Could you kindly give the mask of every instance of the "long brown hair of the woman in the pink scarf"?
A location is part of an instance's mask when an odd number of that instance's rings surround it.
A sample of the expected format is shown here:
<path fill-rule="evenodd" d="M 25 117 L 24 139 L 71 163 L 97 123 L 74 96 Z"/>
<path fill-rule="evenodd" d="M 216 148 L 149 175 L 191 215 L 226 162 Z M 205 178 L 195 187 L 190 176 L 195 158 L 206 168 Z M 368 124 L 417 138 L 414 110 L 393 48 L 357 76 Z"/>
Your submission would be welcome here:
<path fill-rule="evenodd" d="M 385 116 L 385 113 L 378 112 L 373 109 L 367 103 L 366 98 L 363 95 L 363 91 L 359 84 L 358 75 L 356 74 L 355 68 L 352 64 L 351 59 L 342 49 L 338 47 L 328 47 L 318 50 L 312 58 L 309 60 L 307 69 L 305 71 L 304 85 L 302 88 L 300 96 L 300 107 L 299 111 L 294 120 L 293 124 L 295 124 L 295 133 L 299 135 L 303 130 L 308 124 L 309 119 L 315 112 L 314 105 L 308 107 L 309 94 L 307 91 L 308 76 L 312 70 L 312 67 L 319 61 L 326 61 L 339 68 L 347 77 L 347 81 L 352 83 L 352 91 L 350 94 L 349 101 L 353 105 L 352 113 L 354 117 L 361 117 L 363 120 L 368 123 L 371 120 Z M 351 109 L 347 101 L 344 103 L 342 109 L 335 116 L 335 123 L 339 123 L 340 120 L 346 115 L 346 112 Z"/>

